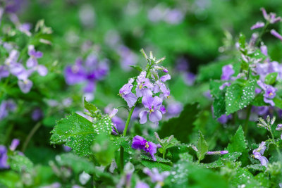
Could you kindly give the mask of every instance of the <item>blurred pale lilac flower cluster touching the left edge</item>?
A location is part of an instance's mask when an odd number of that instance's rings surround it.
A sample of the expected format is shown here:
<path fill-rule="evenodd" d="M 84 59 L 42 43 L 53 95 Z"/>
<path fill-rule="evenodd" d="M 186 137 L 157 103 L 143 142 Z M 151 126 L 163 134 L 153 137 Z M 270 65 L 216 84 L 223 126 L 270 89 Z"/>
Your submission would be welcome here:
<path fill-rule="evenodd" d="M 41 51 L 35 51 L 35 46 L 28 46 L 28 55 L 30 58 L 26 61 L 26 67 L 19 59 L 20 53 L 16 49 L 11 49 L 8 58 L 6 58 L 4 65 L 0 65 L 0 80 L 8 77 L 10 74 L 18 78 L 18 86 L 23 93 L 30 92 L 32 88 L 32 81 L 29 79 L 30 75 L 35 71 L 41 75 L 46 76 L 48 73 L 44 65 L 39 65 L 37 58 L 42 57 Z"/>

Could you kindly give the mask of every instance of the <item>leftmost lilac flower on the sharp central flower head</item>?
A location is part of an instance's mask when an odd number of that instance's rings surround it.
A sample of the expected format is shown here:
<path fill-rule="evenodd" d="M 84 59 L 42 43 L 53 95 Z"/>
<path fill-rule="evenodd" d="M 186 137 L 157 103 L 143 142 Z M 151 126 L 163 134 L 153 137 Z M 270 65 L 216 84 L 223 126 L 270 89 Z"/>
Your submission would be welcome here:
<path fill-rule="evenodd" d="M 128 107 L 133 107 L 137 101 L 137 96 L 131 92 L 133 88 L 133 78 L 130 78 L 127 84 L 123 85 L 119 90 L 119 95 L 127 102 Z"/>

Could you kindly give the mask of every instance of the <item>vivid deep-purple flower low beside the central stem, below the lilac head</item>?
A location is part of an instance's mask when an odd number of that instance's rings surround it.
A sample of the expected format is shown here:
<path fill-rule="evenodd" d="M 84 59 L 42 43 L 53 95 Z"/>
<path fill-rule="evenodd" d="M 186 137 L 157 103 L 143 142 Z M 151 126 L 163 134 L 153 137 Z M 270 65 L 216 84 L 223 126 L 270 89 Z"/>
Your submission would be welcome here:
<path fill-rule="evenodd" d="M 140 136 L 133 137 L 133 144 L 131 146 L 133 149 L 144 150 L 149 153 L 154 161 L 157 161 L 157 158 L 154 157 L 154 153 L 157 153 L 157 146 L 153 142 L 148 142 L 145 138 Z"/>

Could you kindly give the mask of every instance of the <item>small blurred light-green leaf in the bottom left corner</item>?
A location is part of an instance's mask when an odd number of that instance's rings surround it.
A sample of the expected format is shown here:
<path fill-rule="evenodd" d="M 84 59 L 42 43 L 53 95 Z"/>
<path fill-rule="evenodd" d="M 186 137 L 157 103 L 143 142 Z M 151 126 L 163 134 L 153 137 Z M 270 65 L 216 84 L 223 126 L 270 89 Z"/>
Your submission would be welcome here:
<path fill-rule="evenodd" d="M 8 164 L 10 165 L 12 170 L 15 170 L 19 173 L 27 172 L 31 173 L 33 168 L 33 163 L 26 156 L 9 156 Z"/>

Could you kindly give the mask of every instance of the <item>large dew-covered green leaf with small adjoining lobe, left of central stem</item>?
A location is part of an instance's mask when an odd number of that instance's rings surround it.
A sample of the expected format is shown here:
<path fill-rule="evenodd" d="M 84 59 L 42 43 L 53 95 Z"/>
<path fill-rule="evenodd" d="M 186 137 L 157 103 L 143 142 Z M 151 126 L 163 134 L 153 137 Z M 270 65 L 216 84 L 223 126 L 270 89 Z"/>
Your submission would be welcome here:
<path fill-rule="evenodd" d="M 111 134 L 111 123 L 109 115 L 105 115 L 97 123 L 91 123 L 77 113 L 68 115 L 59 120 L 51 131 L 51 144 L 66 144 L 71 147 L 78 156 L 88 156 L 92 153 L 92 145 L 97 134 L 105 132 Z"/>

